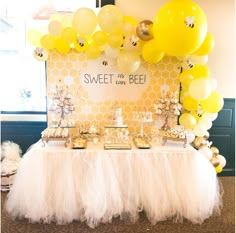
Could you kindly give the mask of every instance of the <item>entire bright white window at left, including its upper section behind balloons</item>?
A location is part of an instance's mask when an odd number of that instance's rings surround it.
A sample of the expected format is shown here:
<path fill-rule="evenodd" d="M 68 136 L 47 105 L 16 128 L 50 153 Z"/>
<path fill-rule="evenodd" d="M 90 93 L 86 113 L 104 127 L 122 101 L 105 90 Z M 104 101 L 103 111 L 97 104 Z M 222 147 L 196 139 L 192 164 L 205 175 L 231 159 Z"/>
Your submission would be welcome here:
<path fill-rule="evenodd" d="M 26 40 L 29 29 L 43 28 L 52 14 L 79 7 L 95 9 L 114 1 L 3 0 L 0 3 L 0 110 L 46 112 L 46 64 L 33 57 Z M 27 7 L 26 7 L 27 6 Z M 23 7 L 23 9 L 22 9 Z M 19 10 L 20 9 L 20 10 Z"/>

